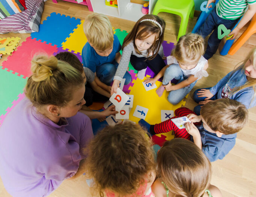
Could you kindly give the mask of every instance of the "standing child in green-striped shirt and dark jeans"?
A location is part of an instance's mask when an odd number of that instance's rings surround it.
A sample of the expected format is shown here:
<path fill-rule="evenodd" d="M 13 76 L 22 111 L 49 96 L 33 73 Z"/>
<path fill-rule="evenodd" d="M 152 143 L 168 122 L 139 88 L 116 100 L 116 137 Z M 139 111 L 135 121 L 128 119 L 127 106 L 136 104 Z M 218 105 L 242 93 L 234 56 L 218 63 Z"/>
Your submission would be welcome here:
<path fill-rule="evenodd" d="M 215 0 L 208 0 L 206 7 L 211 7 L 209 4 L 215 3 Z M 231 31 L 228 36 L 233 37 L 233 40 L 238 35 L 244 25 L 250 21 L 256 11 L 256 0 L 220 0 L 216 4 L 211 13 L 205 20 L 205 23 L 197 31 L 198 34 L 202 35 L 204 38 L 211 34 L 208 39 L 208 45 L 203 57 L 205 59 L 210 59 L 214 53 L 217 51 L 218 46 L 221 42 L 218 39 L 218 26 L 223 24 L 227 29 L 232 30 L 232 28 L 237 24 L 239 19 L 243 16 L 238 25 Z M 212 32 L 212 30 L 214 30 Z"/>

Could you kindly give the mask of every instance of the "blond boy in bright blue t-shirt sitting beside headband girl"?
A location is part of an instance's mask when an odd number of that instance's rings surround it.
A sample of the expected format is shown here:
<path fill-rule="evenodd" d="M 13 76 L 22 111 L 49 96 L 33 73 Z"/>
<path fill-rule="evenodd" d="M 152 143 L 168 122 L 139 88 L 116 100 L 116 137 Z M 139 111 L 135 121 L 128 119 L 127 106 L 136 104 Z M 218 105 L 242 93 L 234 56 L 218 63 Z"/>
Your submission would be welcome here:
<path fill-rule="evenodd" d="M 93 13 L 87 16 L 84 33 L 87 43 L 82 50 L 83 66 L 95 73 L 96 83 L 100 80 L 109 86 L 120 62 L 120 42 L 114 35 L 107 16 L 103 14 Z M 131 82 L 131 75 L 127 71 L 123 78 L 126 79 L 125 84 Z M 109 88 L 106 90 L 110 92 Z"/>

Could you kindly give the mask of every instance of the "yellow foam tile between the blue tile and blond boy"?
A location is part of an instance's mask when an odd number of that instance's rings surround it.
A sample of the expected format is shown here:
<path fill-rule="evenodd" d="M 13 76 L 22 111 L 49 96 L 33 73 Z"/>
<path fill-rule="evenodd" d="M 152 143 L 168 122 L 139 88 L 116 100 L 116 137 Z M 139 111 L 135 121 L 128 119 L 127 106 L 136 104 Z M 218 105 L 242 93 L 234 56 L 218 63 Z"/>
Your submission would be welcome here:
<path fill-rule="evenodd" d="M 77 28 L 74 29 L 73 33 L 69 34 L 70 36 L 66 38 L 66 41 L 62 43 L 63 49 L 74 50 L 74 53 L 82 53 L 84 44 L 87 42 L 87 38 L 83 30 L 84 20 L 81 21 L 80 25 L 77 25 Z"/>

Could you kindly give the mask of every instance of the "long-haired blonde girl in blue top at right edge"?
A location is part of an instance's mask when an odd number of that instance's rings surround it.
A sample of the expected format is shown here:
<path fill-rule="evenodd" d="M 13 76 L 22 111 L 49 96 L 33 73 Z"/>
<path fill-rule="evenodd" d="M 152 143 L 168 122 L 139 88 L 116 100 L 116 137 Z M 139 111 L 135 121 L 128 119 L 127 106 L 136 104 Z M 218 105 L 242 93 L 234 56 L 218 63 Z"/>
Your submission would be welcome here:
<path fill-rule="evenodd" d="M 230 98 L 241 102 L 245 107 L 256 105 L 256 47 L 249 53 L 244 63 L 228 73 L 215 86 L 197 89 L 194 101 L 199 103 L 194 112 L 199 115 L 202 105 L 219 98 Z"/>

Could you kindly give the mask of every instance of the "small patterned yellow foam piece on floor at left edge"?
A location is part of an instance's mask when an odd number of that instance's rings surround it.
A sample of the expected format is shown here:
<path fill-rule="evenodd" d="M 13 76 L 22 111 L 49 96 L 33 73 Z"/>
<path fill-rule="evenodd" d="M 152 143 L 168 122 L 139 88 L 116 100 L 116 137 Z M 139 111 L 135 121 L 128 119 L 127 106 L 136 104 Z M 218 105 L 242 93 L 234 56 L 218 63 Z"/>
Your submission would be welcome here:
<path fill-rule="evenodd" d="M 0 53 L 3 55 L 11 54 L 20 42 L 20 39 L 20 37 L 2 38 L 0 40 Z"/>

